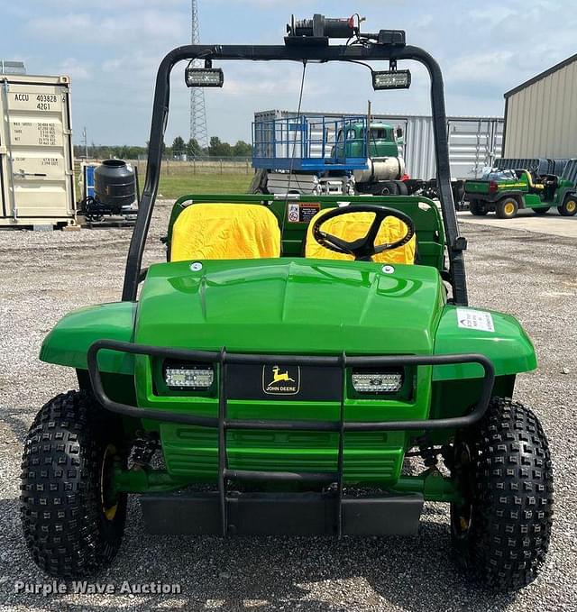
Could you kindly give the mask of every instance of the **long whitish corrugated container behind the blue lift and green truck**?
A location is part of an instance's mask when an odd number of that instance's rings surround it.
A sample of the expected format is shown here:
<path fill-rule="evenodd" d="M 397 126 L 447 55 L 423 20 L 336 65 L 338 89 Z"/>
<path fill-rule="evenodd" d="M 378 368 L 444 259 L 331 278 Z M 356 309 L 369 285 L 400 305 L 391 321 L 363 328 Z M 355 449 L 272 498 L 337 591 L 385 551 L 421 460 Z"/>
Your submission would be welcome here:
<path fill-rule="evenodd" d="M 327 119 L 355 117 L 348 113 L 318 113 L 303 111 L 301 115 Z M 254 114 L 255 123 L 272 119 L 296 117 L 294 111 L 258 111 Z M 389 123 L 402 132 L 403 143 L 399 145 L 411 178 L 428 180 L 436 176 L 435 140 L 433 138 L 433 119 L 418 114 L 371 114 L 373 121 Z M 449 161 L 451 178 L 480 178 L 482 170 L 501 156 L 503 137 L 502 117 L 447 117 L 447 137 L 449 141 Z"/>

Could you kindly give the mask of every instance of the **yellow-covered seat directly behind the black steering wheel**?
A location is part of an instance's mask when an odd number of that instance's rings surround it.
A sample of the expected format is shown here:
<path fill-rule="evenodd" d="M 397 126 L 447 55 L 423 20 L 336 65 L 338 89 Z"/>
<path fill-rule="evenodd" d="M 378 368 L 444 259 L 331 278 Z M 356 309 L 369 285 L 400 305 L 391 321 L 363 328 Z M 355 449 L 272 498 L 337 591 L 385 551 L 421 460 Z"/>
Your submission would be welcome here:
<path fill-rule="evenodd" d="M 353 255 L 337 253 L 326 249 L 316 242 L 313 237 L 313 225 L 320 216 L 325 215 L 329 209 L 320 210 L 311 219 L 307 229 L 307 242 L 305 244 L 305 257 L 318 260 L 354 260 Z M 321 224 L 323 232 L 332 233 L 338 238 L 353 242 L 362 238 L 369 232 L 374 213 L 349 213 L 348 215 L 336 216 L 328 219 L 325 224 Z M 389 216 L 383 219 L 380 224 L 379 233 L 375 239 L 375 245 L 395 242 L 407 234 L 407 224 L 404 224 L 397 217 Z M 393 251 L 383 251 L 372 256 L 373 261 L 379 263 L 415 263 L 415 251 L 417 248 L 417 238 L 413 236 L 407 244 L 394 249 Z"/>

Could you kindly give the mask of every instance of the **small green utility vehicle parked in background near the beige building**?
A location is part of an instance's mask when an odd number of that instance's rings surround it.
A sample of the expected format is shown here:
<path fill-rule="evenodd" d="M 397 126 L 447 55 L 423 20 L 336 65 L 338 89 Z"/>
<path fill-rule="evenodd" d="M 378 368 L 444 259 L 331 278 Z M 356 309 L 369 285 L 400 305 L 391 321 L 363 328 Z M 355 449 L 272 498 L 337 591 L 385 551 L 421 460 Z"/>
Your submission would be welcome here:
<path fill-rule="evenodd" d="M 486 178 L 467 180 L 465 200 L 472 215 L 495 212 L 501 219 L 517 216 L 520 208 L 545 215 L 557 208 L 560 215 L 577 213 L 577 160 L 569 160 L 561 176 L 537 175 L 532 169 L 491 170 Z"/>

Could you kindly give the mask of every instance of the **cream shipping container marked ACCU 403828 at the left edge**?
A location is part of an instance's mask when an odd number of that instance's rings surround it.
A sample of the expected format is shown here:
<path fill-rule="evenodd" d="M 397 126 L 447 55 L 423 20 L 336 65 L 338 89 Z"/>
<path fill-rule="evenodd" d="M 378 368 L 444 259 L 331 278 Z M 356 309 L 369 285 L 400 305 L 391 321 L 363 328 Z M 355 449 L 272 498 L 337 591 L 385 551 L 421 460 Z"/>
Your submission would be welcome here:
<path fill-rule="evenodd" d="M 68 77 L 0 75 L 0 226 L 75 223 Z"/>

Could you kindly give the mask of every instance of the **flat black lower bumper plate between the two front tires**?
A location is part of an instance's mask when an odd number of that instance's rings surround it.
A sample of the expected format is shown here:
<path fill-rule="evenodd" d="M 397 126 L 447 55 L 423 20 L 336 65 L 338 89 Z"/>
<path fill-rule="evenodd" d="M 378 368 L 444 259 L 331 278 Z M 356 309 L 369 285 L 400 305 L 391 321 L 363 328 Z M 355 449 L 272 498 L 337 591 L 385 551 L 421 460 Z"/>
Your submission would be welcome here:
<path fill-rule="evenodd" d="M 228 493 L 226 533 L 243 535 L 414 535 L 423 509 L 420 494 L 382 493 L 335 503 L 335 492 Z M 222 534 L 221 499 L 215 493 L 142 495 L 151 534 Z"/>

